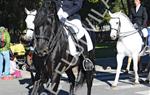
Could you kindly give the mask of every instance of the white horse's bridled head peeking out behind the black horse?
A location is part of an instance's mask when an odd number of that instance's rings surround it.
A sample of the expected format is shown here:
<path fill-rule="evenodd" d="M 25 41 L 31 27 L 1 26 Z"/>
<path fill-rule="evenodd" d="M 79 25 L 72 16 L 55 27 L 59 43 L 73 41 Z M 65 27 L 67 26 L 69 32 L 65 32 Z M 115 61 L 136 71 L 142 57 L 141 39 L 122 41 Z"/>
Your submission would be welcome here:
<path fill-rule="evenodd" d="M 27 17 L 25 19 L 26 22 L 26 30 L 23 31 L 24 35 L 22 38 L 26 41 L 31 41 L 33 39 L 33 32 L 34 32 L 34 18 L 37 13 L 36 10 L 29 11 L 27 8 L 25 8 L 25 13 L 27 14 Z"/>

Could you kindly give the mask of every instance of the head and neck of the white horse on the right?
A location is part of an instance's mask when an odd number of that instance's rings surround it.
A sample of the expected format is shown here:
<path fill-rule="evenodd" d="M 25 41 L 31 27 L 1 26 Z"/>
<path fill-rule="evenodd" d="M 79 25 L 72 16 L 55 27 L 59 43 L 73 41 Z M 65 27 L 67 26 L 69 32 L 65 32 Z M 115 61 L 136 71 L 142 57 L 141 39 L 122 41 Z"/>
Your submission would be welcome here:
<path fill-rule="evenodd" d="M 111 17 L 109 21 L 111 25 L 110 37 L 113 40 L 124 38 L 137 32 L 128 16 L 121 11 L 116 13 L 109 12 L 109 15 Z"/>

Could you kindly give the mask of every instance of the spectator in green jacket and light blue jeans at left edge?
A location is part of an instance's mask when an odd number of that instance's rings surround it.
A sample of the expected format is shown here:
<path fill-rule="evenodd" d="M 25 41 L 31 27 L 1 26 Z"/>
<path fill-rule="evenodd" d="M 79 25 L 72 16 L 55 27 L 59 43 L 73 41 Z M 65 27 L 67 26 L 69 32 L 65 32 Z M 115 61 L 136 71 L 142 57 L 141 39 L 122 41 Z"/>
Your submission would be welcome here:
<path fill-rule="evenodd" d="M 0 27 L 0 33 L 2 35 L 0 45 L 3 44 L 0 47 L 0 77 L 3 80 L 10 80 L 13 78 L 10 75 L 10 35 L 5 27 Z"/>

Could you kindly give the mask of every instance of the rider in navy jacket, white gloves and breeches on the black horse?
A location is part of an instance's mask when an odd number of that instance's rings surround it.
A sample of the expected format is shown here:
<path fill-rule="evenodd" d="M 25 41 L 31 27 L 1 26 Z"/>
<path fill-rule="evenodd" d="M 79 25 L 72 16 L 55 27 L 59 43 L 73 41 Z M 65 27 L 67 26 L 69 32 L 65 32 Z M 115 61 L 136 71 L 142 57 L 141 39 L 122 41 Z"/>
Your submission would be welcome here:
<path fill-rule="evenodd" d="M 81 39 L 84 35 L 87 41 L 88 51 L 93 49 L 93 44 L 88 32 L 83 28 L 80 15 L 78 14 L 79 10 L 82 7 L 83 0 L 58 0 L 57 4 L 57 15 L 59 20 L 64 23 L 66 26 L 69 26 L 73 29 L 73 32 L 76 34 L 77 39 Z M 69 39 L 69 37 L 68 37 Z M 72 55 L 75 55 L 76 47 L 72 44 L 73 41 L 69 40 L 69 48 Z M 73 50 L 73 48 L 75 48 Z"/>

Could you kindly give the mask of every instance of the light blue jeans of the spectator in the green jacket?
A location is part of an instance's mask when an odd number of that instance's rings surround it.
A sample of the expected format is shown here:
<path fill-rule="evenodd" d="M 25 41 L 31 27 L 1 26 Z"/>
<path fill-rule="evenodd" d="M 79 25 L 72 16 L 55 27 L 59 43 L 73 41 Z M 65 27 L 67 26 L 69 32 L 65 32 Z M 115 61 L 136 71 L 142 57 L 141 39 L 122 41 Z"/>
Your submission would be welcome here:
<path fill-rule="evenodd" d="M 4 60 L 5 60 L 5 67 L 4 67 L 4 64 L 3 64 Z M 3 68 L 4 68 L 4 72 L 3 72 Z M 0 52 L 0 77 L 2 76 L 2 73 L 4 75 L 9 75 L 10 74 L 9 50 Z"/>

